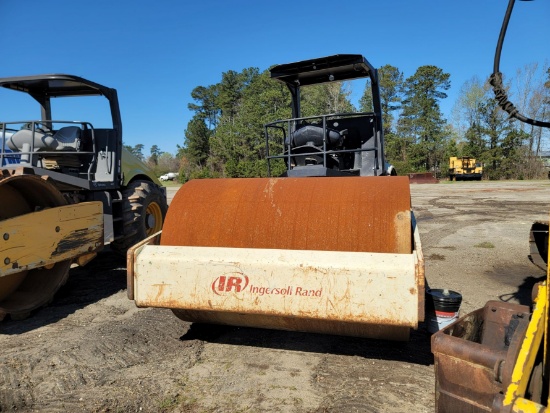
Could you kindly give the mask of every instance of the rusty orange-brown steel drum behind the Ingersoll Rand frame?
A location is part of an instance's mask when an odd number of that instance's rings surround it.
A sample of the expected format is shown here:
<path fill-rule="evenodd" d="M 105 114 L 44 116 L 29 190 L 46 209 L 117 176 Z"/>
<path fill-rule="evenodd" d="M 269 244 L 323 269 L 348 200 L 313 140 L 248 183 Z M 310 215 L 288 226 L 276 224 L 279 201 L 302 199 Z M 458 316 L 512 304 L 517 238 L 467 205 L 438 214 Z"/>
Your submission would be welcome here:
<path fill-rule="evenodd" d="M 160 244 L 411 255 L 410 209 L 408 177 L 193 180 L 175 195 Z M 277 282 L 277 274 L 273 280 Z M 423 279 L 418 283 L 409 295 L 423 288 Z M 388 297 L 395 293 L 387 291 Z M 384 300 L 378 294 L 376 299 Z M 395 340 L 407 340 L 411 327 L 372 320 L 358 323 L 219 308 L 171 308 L 184 321 Z"/>

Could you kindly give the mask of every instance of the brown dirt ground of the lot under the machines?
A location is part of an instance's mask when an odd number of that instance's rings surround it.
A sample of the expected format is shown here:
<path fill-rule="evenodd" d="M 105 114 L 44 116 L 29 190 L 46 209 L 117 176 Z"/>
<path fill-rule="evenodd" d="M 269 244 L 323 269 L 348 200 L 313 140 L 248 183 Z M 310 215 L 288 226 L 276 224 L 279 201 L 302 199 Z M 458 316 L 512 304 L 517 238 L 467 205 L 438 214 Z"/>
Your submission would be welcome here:
<path fill-rule="evenodd" d="M 170 196 L 175 190 L 171 188 Z M 550 181 L 411 185 L 431 288 L 463 295 L 463 314 L 529 303 L 544 274 L 528 260 Z M 190 325 L 127 299 L 109 251 L 53 303 L 0 323 L 0 411 L 432 412 L 424 324 L 406 343 Z"/>

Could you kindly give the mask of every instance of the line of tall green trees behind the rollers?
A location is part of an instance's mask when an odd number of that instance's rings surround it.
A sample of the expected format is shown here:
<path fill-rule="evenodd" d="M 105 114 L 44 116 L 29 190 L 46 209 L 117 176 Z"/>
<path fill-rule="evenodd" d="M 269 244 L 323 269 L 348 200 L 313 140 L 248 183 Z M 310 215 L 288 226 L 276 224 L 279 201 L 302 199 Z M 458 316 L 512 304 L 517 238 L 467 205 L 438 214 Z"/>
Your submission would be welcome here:
<path fill-rule="evenodd" d="M 409 77 L 392 65 L 382 66 L 378 74 L 386 157 L 399 174 L 430 171 L 444 177 L 450 156 L 475 157 L 489 179 L 533 179 L 548 173 L 540 160 L 548 131 L 509 119 L 486 81 L 473 77 L 466 82 L 447 120 L 440 103 L 447 98 L 450 74 L 432 65 Z M 357 107 L 351 101 L 352 86 L 334 82 L 303 88 L 302 116 L 372 111 L 368 81 Z M 548 66 L 526 66 L 507 87 L 521 113 L 550 118 Z M 247 68 L 222 73 L 217 84 L 195 87 L 191 98 L 193 117 L 175 156 L 157 145 L 147 157 L 143 145 L 127 148 L 160 173 L 177 169 L 182 182 L 266 176 L 263 125 L 291 117 L 286 87 L 270 79 L 269 70 Z"/>

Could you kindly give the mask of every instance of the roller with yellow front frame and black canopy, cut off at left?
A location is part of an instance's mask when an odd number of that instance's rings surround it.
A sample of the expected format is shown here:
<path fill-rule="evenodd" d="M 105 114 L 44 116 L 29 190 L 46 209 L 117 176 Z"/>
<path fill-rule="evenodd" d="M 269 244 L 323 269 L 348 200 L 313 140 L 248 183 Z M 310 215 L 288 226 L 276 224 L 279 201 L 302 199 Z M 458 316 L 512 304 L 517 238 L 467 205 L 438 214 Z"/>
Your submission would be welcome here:
<path fill-rule="evenodd" d="M 125 253 L 159 231 L 167 203 L 149 168 L 123 148 L 115 89 L 64 74 L 0 78 L 0 89 L 42 114 L 0 122 L 2 320 L 50 302 L 71 264 L 86 264 L 103 245 Z M 80 114 L 88 121 L 68 121 L 55 101 L 76 98 L 64 101 L 78 107 L 98 96 L 111 115 L 105 127 L 89 121 L 98 107 Z"/>

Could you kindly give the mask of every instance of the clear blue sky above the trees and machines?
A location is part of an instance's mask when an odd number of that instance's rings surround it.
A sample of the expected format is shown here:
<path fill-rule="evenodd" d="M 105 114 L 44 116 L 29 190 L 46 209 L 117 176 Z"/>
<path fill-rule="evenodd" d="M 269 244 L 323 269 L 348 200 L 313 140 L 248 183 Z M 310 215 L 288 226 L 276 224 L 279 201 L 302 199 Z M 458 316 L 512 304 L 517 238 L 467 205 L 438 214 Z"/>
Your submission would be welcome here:
<path fill-rule="evenodd" d="M 341 3 L 341 4 L 339 4 Z M 70 73 L 118 90 L 124 142 L 175 153 L 191 91 L 222 72 L 338 53 L 451 74 L 447 118 L 465 81 L 492 72 L 506 0 L 0 0 L 0 77 Z M 550 2 L 516 2 L 501 61 L 513 76 L 550 59 Z M 4 96 L 4 95 L 2 95 Z M 0 100 L 0 120 L 20 120 Z M 14 119 L 15 117 L 16 119 Z M 80 120 L 86 120 L 81 117 Z"/>

